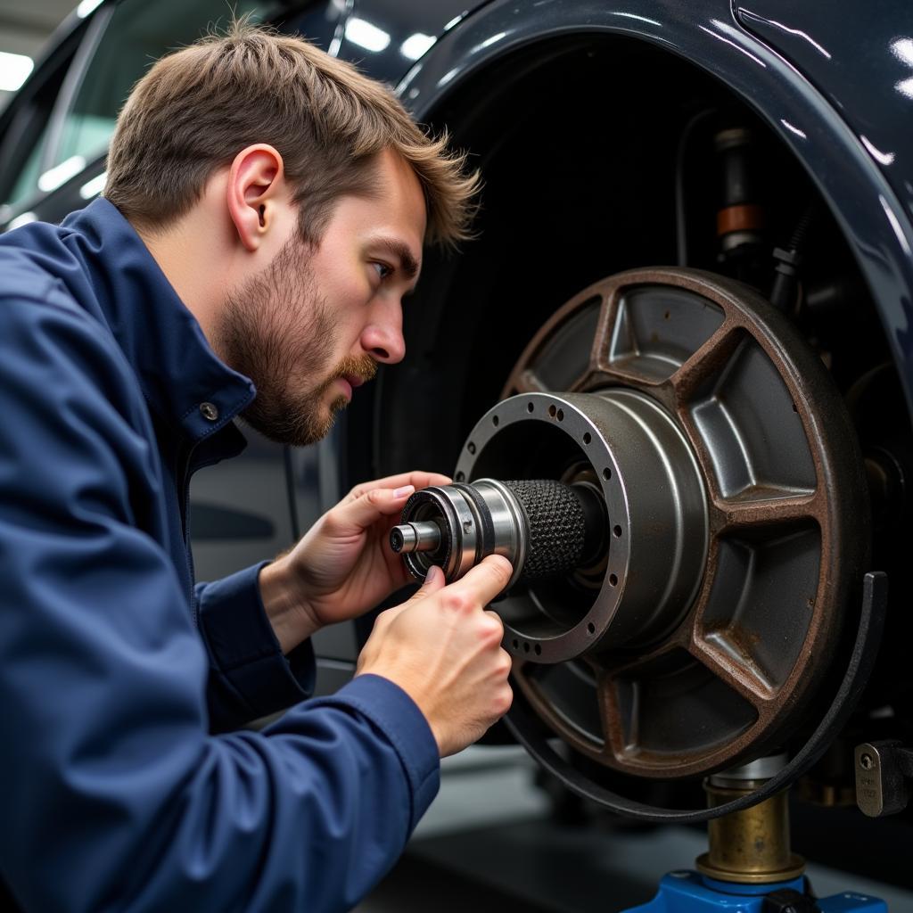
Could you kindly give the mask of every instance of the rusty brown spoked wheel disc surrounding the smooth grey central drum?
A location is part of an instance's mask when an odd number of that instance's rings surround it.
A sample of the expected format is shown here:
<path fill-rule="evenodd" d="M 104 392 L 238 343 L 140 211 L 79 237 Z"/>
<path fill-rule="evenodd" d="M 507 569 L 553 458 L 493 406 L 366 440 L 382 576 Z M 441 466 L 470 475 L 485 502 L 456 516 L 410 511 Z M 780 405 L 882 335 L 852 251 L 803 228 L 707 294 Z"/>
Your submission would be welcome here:
<path fill-rule="evenodd" d="M 598 320 L 582 320 L 593 308 Z M 584 669 L 543 671 L 557 661 L 546 627 L 539 662 L 517 661 L 514 676 L 540 718 L 596 761 L 641 776 L 718 770 L 789 735 L 838 643 L 867 542 L 855 437 L 792 326 L 750 289 L 695 270 L 634 270 L 585 289 L 530 342 L 504 394 L 543 391 L 549 352 L 567 373 L 572 350 L 556 341 L 568 331 L 579 342 L 582 325 L 596 329 L 572 390 L 636 391 L 687 437 L 708 494 L 706 572 L 658 642 L 632 654 L 607 638 Z M 618 510 L 610 503 L 610 522 Z"/>

